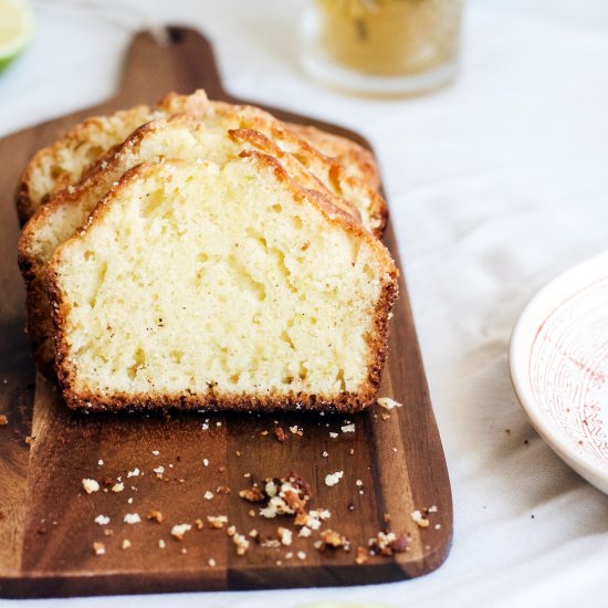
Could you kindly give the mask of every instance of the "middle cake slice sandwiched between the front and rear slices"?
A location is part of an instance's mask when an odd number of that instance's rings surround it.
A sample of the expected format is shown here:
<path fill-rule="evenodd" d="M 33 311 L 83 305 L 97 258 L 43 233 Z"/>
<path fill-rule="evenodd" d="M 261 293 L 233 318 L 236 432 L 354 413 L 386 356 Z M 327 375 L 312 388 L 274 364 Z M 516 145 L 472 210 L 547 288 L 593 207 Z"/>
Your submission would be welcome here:
<path fill-rule="evenodd" d="M 59 193 L 25 226 L 19 243 L 19 262 L 27 281 L 28 331 L 34 358 L 45 375 L 52 375 L 54 360 L 52 325 L 44 290 L 46 262 L 57 245 L 85 224 L 90 213 L 111 186 L 125 171 L 141 161 L 161 158 L 223 161 L 238 156 L 242 149 L 258 149 L 277 158 L 301 186 L 331 198 L 336 207 L 365 227 L 370 230 L 371 226 L 384 227 L 386 203 L 369 186 L 358 184 L 354 178 L 334 169 L 334 163 L 322 155 L 300 148 L 295 156 L 284 153 L 259 132 L 229 129 L 230 126 L 253 124 L 251 113 L 245 120 L 242 118 L 243 114 L 233 108 L 234 106 L 228 105 L 220 108 L 218 104 L 218 112 L 206 115 L 205 120 L 200 119 L 200 115 L 180 114 L 139 127 L 113 156 L 91 169 L 85 181 Z M 273 130 L 270 119 L 258 119 L 255 124 L 264 126 L 269 133 Z M 314 166 L 317 175 L 325 177 L 325 181 L 318 180 L 305 165 Z M 354 184 L 350 189 L 349 184 Z M 339 196 L 345 190 L 349 193 L 349 200 Z"/>

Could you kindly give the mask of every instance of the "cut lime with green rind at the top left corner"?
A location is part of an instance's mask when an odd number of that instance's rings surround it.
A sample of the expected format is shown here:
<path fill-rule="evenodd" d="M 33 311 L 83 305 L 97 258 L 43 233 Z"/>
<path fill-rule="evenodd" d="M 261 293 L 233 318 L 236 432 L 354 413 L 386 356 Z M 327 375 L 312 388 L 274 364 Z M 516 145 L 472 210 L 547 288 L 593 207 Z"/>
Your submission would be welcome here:
<path fill-rule="evenodd" d="M 34 33 L 34 13 L 28 0 L 0 0 L 0 71 L 28 46 Z"/>

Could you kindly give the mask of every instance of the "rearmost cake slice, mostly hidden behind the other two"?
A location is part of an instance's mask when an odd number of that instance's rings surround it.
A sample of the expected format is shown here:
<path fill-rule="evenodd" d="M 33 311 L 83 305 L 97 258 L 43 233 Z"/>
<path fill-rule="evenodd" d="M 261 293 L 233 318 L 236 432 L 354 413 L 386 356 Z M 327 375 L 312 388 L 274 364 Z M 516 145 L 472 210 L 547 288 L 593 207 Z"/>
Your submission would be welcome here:
<path fill-rule="evenodd" d="M 25 167 L 15 195 L 21 223 L 25 223 L 54 193 L 86 177 L 91 167 L 111 155 L 114 146 L 122 144 L 140 125 L 179 113 L 202 116 L 213 112 L 216 105 L 230 106 L 230 104 L 209 102 L 203 91 L 197 91 L 192 95 L 170 93 L 154 108 L 140 105 L 128 111 L 119 111 L 111 116 L 87 118 L 76 125 L 56 143 L 38 151 Z M 250 106 L 231 107 L 249 109 L 250 115 L 258 111 Z M 274 120 L 262 111 L 258 111 L 258 118 L 259 124 L 254 128 L 262 132 L 260 120 L 266 123 L 269 118 Z M 377 188 L 378 170 L 374 158 L 358 144 L 313 127 L 283 123 L 281 130 L 285 137 L 291 135 L 293 141 L 310 140 L 315 150 L 318 148 L 327 159 L 335 159 L 348 175 Z"/>

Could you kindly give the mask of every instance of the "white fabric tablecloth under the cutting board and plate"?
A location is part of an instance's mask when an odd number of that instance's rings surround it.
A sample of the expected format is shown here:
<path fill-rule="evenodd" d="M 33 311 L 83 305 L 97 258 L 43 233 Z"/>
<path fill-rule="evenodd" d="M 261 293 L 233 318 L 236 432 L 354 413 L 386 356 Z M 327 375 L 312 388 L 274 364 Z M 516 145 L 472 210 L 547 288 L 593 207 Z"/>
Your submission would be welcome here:
<path fill-rule="evenodd" d="M 0 77 L 0 135 L 96 103 L 115 86 L 128 27 L 76 4 L 36 3 L 35 43 Z M 149 15 L 207 32 L 234 94 L 345 124 L 374 143 L 451 474 L 453 548 L 434 574 L 406 583 L 129 604 L 608 606 L 608 499 L 532 430 L 506 364 L 525 303 L 607 247 L 608 3 L 472 2 L 460 78 L 409 101 L 339 96 L 303 75 L 294 35 L 303 4 L 139 2 Z"/>

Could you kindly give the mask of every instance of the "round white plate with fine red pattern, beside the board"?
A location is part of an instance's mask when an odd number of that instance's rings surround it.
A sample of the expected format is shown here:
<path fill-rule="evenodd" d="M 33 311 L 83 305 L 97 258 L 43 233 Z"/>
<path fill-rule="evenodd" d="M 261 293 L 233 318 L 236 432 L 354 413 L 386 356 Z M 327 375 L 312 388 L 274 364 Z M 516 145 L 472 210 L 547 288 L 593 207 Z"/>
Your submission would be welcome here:
<path fill-rule="evenodd" d="M 536 294 L 513 329 L 509 365 L 534 428 L 608 493 L 608 253 Z"/>

